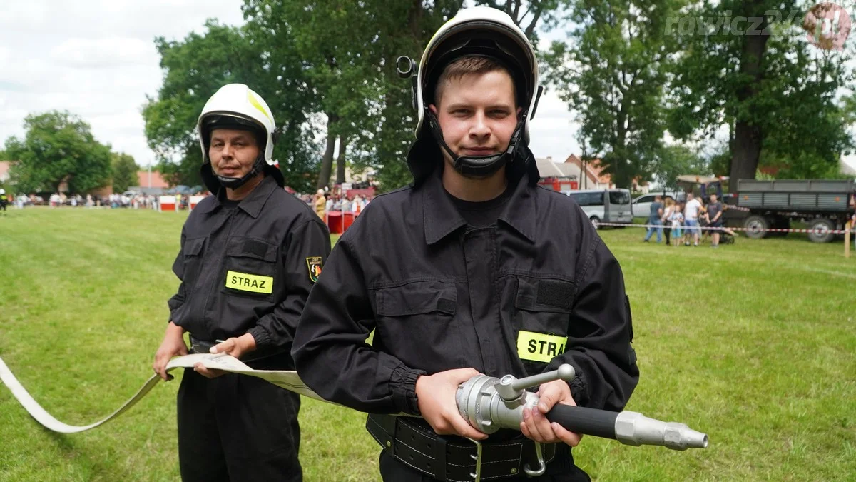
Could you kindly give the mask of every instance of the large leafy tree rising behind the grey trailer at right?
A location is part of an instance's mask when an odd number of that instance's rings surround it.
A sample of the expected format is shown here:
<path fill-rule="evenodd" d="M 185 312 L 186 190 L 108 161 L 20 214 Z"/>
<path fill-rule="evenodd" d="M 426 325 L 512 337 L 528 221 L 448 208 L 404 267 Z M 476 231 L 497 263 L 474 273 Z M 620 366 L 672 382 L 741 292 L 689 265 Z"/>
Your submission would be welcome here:
<path fill-rule="evenodd" d="M 672 71 L 669 130 L 686 139 L 727 128 L 732 191 L 759 165 L 811 175 L 827 169 L 812 166 L 837 165 L 852 145 L 836 101 L 842 87 L 852 86 L 847 53 L 806 43 L 804 29 L 817 23 L 803 25 L 799 6 L 705 0 L 673 32 L 683 48 Z"/>

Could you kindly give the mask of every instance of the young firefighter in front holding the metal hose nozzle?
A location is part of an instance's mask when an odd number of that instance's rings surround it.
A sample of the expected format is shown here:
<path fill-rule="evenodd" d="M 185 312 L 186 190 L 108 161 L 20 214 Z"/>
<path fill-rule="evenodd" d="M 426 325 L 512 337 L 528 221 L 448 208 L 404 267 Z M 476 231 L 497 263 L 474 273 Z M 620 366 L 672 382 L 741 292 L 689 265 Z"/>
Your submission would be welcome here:
<path fill-rule="evenodd" d="M 586 480 L 569 447 L 580 437 L 544 413 L 620 410 L 639 371 L 618 262 L 579 206 L 537 186 L 535 53 L 508 15 L 464 9 L 417 80 L 414 183 L 377 196 L 336 244 L 294 337 L 297 370 L 318 395 L 372 413 L 384 480 L 472 480 L 476 447 L 461 437 L 484 444 L 482 479 L 525 479 L 537 442 L 539 480 Z M 577 377 L 541 385 L 520 431 L 487 438 L 458 413 L 455 390 L 478 373 L 562 363 Z"/>

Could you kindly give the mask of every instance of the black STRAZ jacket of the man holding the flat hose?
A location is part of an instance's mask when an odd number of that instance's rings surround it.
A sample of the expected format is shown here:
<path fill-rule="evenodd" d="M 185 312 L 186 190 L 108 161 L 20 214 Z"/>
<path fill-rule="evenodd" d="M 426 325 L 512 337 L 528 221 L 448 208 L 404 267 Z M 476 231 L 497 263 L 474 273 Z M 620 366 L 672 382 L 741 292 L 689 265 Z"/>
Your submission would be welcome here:
<path fill-rule="evenodd" d="M 329 255 L 327 226 L 270 176 L 237 208 L 208 196 L 181 229 L 170 319 L 200 340 L 249 332 L 257 349 L 288 352 Z"/>

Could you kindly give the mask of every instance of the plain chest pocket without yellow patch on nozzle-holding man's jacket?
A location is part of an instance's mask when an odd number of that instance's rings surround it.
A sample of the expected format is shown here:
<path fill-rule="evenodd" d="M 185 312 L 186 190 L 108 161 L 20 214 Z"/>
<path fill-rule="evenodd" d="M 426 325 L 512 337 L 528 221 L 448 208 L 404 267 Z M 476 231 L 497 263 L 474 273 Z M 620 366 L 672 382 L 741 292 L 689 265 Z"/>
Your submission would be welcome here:
<path fill-rule="evenodd" d="M 449 343 L 449 326 L 458 304 L 455 284 L 420 281 L 377 290 L 377 329 L 387 346 L 424 352 Z"/>

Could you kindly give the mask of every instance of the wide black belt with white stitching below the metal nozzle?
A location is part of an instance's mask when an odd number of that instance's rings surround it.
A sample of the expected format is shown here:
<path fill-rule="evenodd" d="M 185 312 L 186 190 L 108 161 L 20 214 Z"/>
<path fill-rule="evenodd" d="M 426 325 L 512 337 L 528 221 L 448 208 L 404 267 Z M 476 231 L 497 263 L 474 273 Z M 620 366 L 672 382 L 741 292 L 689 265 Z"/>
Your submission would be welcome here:
<path fill-rule="evenodd" d="M 527 469 L 540 466 L 538 445 L 544 464 L 556 457 L 556 443 L 538 444 L 524 437 L 496 443 L 453 443 L 420 419 L 395 415 L 369 414 L 366 430 L 396 460 L 448 482 L 526 477 Z"/>

